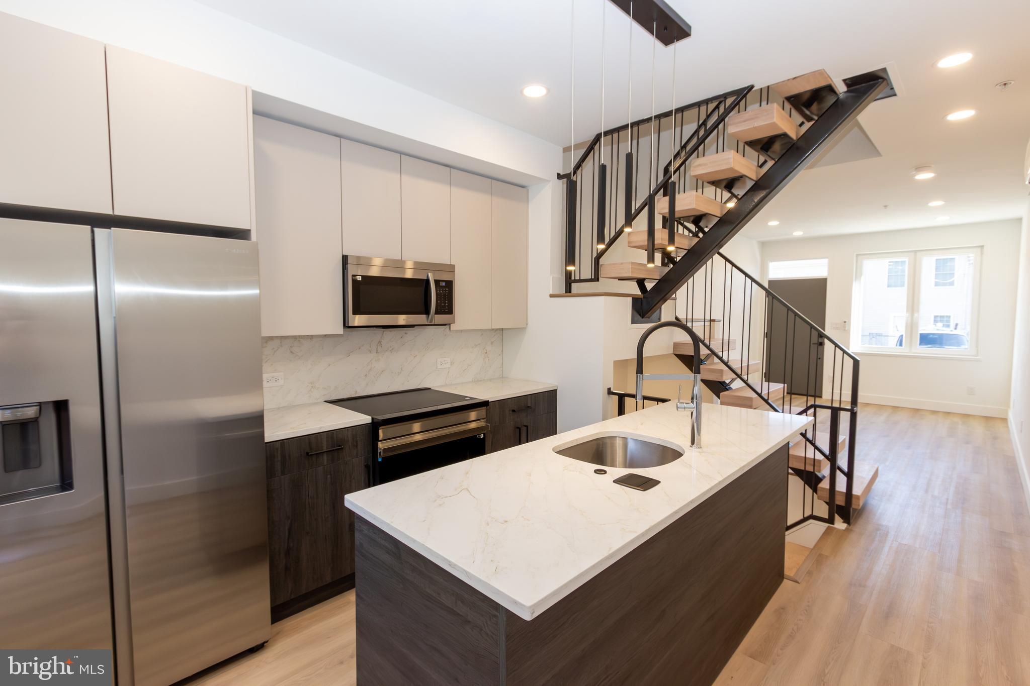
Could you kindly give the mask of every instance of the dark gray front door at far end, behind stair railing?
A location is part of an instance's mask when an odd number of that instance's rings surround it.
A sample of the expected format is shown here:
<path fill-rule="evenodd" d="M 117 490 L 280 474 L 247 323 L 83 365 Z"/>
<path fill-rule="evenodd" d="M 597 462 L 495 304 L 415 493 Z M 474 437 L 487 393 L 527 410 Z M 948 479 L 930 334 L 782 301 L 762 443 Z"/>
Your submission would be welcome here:
<path fill-rule="evenodd" d="M 826 329 L 825 278 L 770 279 L 768 287 L 820 329 Z M 786 384 L 787 392 L 794 395 L 822 396 L 825 340 L 782 303 L 769 298 L 768 308 L 767 380 Z"/>

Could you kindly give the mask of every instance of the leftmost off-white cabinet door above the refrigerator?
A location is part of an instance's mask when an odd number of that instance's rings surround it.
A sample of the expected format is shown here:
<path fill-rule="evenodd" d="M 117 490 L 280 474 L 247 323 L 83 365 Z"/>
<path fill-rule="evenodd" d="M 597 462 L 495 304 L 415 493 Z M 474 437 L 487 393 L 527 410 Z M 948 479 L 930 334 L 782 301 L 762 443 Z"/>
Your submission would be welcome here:
<path fill-rule="evenodd" d="M 104 44 L 0 13 L 0 203 L 111 212 Z"/>

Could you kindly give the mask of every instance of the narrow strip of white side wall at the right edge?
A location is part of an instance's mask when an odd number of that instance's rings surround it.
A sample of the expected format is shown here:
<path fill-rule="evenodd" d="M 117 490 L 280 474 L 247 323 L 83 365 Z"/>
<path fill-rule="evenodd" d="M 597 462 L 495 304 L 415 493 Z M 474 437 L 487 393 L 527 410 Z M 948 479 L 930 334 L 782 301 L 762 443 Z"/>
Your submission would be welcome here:
<path fill-rule="evenodd" d="M 1023 488 L 1030 502 L 1030 205 L 1023 215 L 1020 280 L 1016 304 L 1016 346 L 1012 355 L 1012 398 L 1008 428 L 1016 447 Z"/>

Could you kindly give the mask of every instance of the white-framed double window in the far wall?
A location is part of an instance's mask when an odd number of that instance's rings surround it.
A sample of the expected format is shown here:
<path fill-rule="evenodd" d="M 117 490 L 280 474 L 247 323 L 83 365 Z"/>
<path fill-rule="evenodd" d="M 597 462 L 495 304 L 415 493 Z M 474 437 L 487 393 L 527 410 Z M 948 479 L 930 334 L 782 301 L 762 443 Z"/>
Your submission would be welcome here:
<path fill-rule="evenodd" d="M 858 255 L 852 346 L 973 355 L 981 248 Z"/>

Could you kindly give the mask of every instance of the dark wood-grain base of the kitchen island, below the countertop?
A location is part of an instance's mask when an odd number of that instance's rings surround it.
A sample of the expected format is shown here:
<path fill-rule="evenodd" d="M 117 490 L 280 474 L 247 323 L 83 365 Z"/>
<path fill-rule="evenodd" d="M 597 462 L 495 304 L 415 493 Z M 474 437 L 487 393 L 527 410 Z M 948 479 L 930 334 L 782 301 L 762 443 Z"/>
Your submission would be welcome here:
<path fill-rule="evenodd" d="M 357 682 L 711 684 L 783 582 L 778 448 L 531 621 L 357 517 Z"/>

